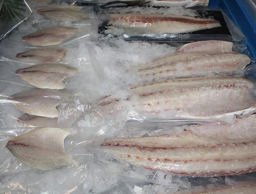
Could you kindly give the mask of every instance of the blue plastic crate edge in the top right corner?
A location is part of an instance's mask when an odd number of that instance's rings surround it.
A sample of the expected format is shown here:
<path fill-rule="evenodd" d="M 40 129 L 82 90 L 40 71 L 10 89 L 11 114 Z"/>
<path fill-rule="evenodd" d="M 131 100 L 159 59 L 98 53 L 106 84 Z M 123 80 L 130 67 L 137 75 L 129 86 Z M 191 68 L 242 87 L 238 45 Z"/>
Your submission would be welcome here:
<path fill-rule="evenodd" d="M 209 0 L 209 6 L 219 6 L 247 38 L 247 47 L 256 58 L 256 12 L 250 0 Z"/>

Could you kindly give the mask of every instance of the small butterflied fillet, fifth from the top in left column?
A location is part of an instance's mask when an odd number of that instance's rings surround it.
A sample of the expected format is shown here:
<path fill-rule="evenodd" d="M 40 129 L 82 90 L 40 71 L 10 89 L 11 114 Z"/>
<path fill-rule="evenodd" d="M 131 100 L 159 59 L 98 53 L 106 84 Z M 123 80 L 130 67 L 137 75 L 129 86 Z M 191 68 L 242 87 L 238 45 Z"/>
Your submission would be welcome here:
<path fill-rule="evenodd" d="M 51 89 L 30 89 L 8 97 L 13 101 L 20 111 L 41 117 L 58 117 L 59 110 L 56 106 L 60 105 L 62 100 L 68 99 L 68 93 L 60 90 Z"/>

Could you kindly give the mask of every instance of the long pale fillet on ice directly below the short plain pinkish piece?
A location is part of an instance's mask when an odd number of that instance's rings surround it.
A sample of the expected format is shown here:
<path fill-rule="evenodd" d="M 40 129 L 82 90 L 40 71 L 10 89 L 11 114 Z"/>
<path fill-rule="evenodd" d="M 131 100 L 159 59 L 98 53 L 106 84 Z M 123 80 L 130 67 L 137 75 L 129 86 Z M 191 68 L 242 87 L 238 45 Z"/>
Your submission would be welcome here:
<path fill-rule="evenodd" d="M 242 75 L 251 62 L 247 55 L 230 53 L 176 53 L 138 65 L 141 77 L 182 78 L 214 75 Z M 140 69 L 140 67 L 142 67 Z"/>

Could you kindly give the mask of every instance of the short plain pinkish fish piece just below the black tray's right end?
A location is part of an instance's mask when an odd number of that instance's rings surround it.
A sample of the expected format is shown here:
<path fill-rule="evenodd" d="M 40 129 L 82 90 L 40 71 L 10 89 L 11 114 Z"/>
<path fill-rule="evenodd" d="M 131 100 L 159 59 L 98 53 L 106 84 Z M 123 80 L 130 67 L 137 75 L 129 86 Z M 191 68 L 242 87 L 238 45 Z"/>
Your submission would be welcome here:
<path fill-rule="evenodd" d="M 177 53 L 230 53 L 234 44 L 227 41 L 198 41 L 182 46 Z"/>

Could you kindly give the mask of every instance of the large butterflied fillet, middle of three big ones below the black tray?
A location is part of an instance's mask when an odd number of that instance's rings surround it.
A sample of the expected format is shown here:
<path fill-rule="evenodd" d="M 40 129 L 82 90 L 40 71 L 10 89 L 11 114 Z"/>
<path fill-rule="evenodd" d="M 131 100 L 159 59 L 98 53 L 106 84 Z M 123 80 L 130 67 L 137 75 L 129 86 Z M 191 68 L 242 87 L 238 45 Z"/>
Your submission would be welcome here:
<path fill-rule="evenodd" d="M 132 86 L 124 100 L 110 95 L 95 103 L 109 114 L 132 107 L 153 115 L 165 112 L 168 119 L 224 119 L 256 111 L 252 90 L 253 83 L 240 77 L 179 78 Z"/>

